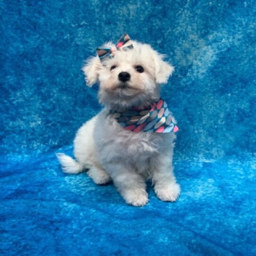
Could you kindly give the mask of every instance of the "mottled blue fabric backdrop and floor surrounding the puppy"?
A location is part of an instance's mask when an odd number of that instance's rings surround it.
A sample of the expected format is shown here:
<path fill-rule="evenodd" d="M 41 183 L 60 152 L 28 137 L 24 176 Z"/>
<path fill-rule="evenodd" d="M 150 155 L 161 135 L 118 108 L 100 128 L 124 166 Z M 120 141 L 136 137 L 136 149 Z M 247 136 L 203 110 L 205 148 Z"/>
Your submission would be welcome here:
<path fill-rule="evenodd" d="M 0 254 L 256 255 L 255 17 L 250 0 L 1 0 Z M 124 32 L 176 67 L 175 203 L 148 186 L 128 206 L 54 155 L 101 109 L 83 61 Z"/>

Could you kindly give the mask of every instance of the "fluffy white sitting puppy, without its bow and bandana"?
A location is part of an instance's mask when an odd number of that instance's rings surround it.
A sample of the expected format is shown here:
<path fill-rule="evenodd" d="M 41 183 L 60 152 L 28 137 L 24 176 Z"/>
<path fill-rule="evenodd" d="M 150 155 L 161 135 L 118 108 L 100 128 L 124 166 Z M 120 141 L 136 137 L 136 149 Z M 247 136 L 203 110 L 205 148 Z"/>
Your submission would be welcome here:
<path fill-rule="evenodd" d="M 132 42 L 133 49 L 115 51 L 114 58 L 92 57 L 83 71 L 86 83 L 99 83 L 99 102 L 104 109 L 87 121 L 74 140 L 77 161 L 57 154 L 66 173 L 89 169 L 96 184 L 113 180 L 126 203 L 146 205 L 146 179 L 152 179 L 156 195 L 163 201 L 175 201 L 180 193 L 173 174 L 173 132 L 134 132 L 124 129 L 110 114 L 132 106 L 149 106 L 160 98 L 173 67 L 150 45 Z M 115 47 L 113 43 L 106 47 Z"/>

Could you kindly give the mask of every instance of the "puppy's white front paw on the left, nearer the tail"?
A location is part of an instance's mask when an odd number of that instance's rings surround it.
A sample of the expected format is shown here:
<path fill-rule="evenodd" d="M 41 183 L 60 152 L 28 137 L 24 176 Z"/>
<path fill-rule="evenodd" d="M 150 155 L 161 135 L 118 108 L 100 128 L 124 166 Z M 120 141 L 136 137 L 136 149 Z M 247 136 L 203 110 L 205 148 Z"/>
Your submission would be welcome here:
<path fill-rule="evenodd" d="M 148 202 L 148 195 L 144 189 L 129 189 L 122 193 L 126 203 L 133 206 L 144 206 Z"/>

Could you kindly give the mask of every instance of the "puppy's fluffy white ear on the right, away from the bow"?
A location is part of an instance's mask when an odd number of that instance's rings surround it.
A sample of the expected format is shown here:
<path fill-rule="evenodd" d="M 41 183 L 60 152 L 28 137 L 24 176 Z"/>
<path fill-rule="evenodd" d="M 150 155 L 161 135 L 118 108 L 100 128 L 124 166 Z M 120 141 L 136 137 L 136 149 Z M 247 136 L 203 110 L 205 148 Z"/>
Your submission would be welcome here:
<path fill-rule="evenodd" d="M 155 67 L 155 80 L 157 84 L 167 84 L 169 77 L 174 71 L 168 62 L 164 61 L 164 55 L 155 52 L 153 54 L 154 67 Z"/>

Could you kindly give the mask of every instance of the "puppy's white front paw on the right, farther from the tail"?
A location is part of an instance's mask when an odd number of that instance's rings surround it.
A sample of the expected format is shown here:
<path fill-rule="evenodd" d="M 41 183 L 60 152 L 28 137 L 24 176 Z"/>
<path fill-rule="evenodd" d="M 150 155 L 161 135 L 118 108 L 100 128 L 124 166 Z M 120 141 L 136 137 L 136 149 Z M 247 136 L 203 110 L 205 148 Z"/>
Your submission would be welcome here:
<path fill-rule="evenodd" d="M 177 200 L 180 194 L 180 187 L 177 183 L 172 183 L 167 187 L 156 186 L 154 190 L 156 196 L 162 201 L 174 202 Z"/>

